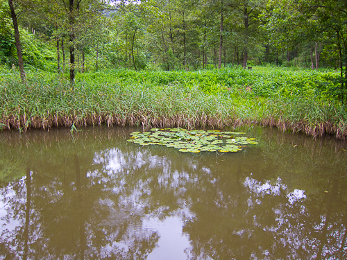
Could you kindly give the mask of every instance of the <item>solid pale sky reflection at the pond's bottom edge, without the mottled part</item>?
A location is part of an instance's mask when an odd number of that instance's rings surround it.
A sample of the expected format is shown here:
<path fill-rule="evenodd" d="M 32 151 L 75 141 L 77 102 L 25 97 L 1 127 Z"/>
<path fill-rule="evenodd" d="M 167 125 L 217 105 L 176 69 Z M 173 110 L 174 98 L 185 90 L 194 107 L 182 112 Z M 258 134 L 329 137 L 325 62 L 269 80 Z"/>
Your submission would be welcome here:
<path fill-rule="evenodd" d="M 187 259 L 187 252 L 192 250 L 189 236 L 183 234 L 183 220 L 178 216 L 169 216 L 164 220 L 149 218 L 142 222 L 143 229 L 152 229 L 160 239 L 157 247 L 149 254 L 147 260 L 180 260 Z"/>

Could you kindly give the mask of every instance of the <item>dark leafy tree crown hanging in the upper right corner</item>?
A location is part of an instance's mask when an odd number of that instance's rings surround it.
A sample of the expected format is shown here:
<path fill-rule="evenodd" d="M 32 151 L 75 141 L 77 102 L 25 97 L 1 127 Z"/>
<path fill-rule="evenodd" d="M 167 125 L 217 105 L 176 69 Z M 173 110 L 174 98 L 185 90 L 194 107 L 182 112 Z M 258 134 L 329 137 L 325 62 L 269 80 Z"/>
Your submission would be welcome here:
<path fill-rule="evenodd" d="M 305 44 L 311 68 L 319 66 L 320 53 L 329 53 L 339 64 L 340 89 L 335 93 L 347 101 L 347 5 L 346 1 L 271 1 L 267 6 L 266 27 L 278 49 Z M 314 61 L 316 66 L 314 66 Z"/>

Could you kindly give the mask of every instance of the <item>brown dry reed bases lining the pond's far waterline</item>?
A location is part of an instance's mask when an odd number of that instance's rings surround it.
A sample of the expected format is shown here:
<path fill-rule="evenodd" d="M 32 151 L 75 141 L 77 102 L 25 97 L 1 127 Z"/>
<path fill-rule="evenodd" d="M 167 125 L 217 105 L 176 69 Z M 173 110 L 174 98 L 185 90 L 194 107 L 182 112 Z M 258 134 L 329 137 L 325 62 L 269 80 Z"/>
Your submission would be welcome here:
<path fill-rule="evenodd" d="M 312 123 L 280 121 L 278 119 L 262 119 L 261 121 L 254 119 L 220 119 L 217 117 L 202 115 L 200 119 L 187 118 L 186 116 L 176 116 L 167 118 L 165 116 L 151 117 L 140 112 L 134 113 L 128 118 L 117 114 L 93 114 L 92 116 L 81 117 L 76 114 L 70 116 L 47 116 L 40 118 L 39 116 L 28 117 L 22 116 L 18 118 L 16 116 L 8 116 L 0 119 L 0 130 L 21 130 L 26 132 L 27 130 L 49 130 L 51 128 L 71 128 L 73 125 L 76 128 L 87 127 L 92 125 L 107 125 L 112 126 L 130 126 L 130 127 L 142 127 L 143 129 L 149 128 L 237 128 L 242 125 L 260 125 L 264 127 L 278 128 L 285 132 L 289 130 L 292 133 L 301 132 L 307 136 L 322 137 L 324 135 L 330 135 L 336 139 L 346 139 L 347 128 L 339 128 L 332 123 Z"/>

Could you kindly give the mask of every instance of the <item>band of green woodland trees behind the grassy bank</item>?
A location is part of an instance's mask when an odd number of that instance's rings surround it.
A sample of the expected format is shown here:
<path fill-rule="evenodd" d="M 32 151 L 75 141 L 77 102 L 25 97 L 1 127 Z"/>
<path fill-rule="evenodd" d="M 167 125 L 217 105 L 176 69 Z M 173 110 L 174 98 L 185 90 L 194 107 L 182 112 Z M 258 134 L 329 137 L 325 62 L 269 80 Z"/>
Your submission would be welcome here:
<path fill-rule="evenodd" d="M 0 16 L 2 64 L 20 65 L 22 45 L 24 67 L 69 70 L 71 83 L 76 71 L 105 67 L 276 64 L 339 69 L 346 96 L 346 1 L 1 0 Z"/>

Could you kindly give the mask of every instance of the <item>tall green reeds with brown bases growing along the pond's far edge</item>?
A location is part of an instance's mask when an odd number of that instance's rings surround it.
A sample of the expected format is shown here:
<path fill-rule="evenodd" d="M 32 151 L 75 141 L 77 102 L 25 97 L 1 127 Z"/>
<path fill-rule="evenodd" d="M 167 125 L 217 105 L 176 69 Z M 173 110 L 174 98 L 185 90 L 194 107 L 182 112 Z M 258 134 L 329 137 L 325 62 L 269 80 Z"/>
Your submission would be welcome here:
<path fill-rule="evenodd" d="M 182 83 L 175 77 L 170 79 L 169 73 L 163 73 L 162 82 L 167 84 L 158 84 L 160 78 L 151 83 L 158 74 L 147 72 L 149 76 L 145 78 L 144 72 L 129 73 L 135 75 L 135 80 L 107 75 L 110 82 L 105 82 L 105 74 L 96 73 L 93 80 L 83 76 L 87 80 L 80 78 L 73 87 L 51 74 L 29 75 L 26 85 L 9 76 L 0 83 L 0 128 L 49 129 L 73 124 L 223 128 L 260 123 L 315 137 L 347 136 L 346 109 L 333 101 L 316 102 L 300 96 L 262 97 L 240 85 L 219 85 L 219 92 L 206 93 L 198 81 Z M 214 73 L 216 78 L 223 78 L 223 73 Z"/>

